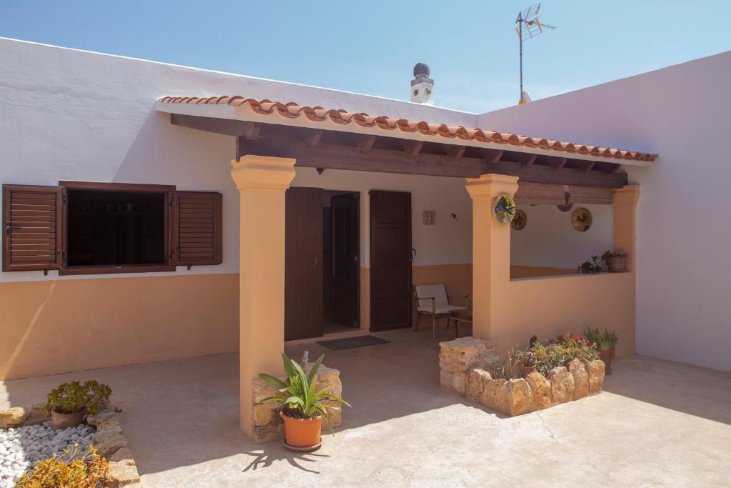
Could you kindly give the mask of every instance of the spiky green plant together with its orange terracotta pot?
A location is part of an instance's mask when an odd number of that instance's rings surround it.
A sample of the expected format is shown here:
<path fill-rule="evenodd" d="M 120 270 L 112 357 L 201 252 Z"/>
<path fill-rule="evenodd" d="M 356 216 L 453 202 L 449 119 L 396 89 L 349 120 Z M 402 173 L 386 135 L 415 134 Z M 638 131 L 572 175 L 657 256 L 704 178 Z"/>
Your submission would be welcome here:
<path fill-rule="evenodd" d="M 262 399 L 260 403 L 278 402 L 279 416 L 284 421 L 284 445 L 287 448 L 293 451 L 314 451 L 321 443 L 322 419 L 325 419 L 330 432 L 335 434 L 330 418 L 327 417 L 327 408 L 340 408 L 325 405 L 322 400 L 334 400 L 348 406 L 350 404 L 330 394 L 327 388 L 315 391 L 317 369 L 325 359 L 325 354 L 317 358 L 308 373 L 287 354 L 282 353 L 281 357 L 284 361 L 284 371 L 287 373 L 286 381 L 265 373 L 261 373 L 259 377 L 279 389 L 282 395 Z"/>

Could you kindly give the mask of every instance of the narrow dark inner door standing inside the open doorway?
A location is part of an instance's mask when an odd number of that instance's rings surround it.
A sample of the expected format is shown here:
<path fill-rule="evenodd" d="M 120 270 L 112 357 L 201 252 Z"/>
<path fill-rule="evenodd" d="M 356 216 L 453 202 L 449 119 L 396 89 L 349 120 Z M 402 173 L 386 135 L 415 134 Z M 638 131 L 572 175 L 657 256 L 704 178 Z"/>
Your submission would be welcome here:
<path fill-rule="evenodd" d="M 330 320 L 344 326 L 358 326 L 360 296 L 358 236 L 360 218 L 357 193 L 333 195 L 330 198 L 332 228 L 332 313 Z"/>

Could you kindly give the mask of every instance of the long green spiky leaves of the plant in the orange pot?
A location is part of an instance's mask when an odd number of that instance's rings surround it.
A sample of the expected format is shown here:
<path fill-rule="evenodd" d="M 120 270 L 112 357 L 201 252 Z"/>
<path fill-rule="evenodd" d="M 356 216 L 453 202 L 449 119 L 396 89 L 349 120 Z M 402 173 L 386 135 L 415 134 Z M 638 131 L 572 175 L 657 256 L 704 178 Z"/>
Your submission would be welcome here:
<path fill-rule="evenodd" d="M 293 418 L 313 418 L 322 416 L 325 420 L 325 424 L 330 429 L 330 432 L 335 434 L 333 424 L 330 424 L 330 418 L 327 416 L 327 408 L 338 410 L 340 407 L 335 405 L 325 405 L 322 400 L 333 400 L 335 402 L 348 405 L 344 399 L 337 397 L 336 395 L 330 394 L 328 388 L 322 388 L 319 391 L 315 391 L 317 385 L 317 369 L 319 369 L 322 360 L 325 359 L 325 354 L 317 358 L 314 362 L 309 373 L 306 373 L 303 367 L 282 353 L 281 359 L 284 362 L 284 371 L 287 372 L 287 381 L 282 381 L 272 375 L 266 373 L 260 373 L 259 378 L 265 380 L 271 386 L 279 389 L 282 395 L 274 397 L 267 397 L 262 399 L 260 403 L 264 402 L 279 402 L 277 408 L 284 408 L 284 415 Z M 286 394 L 286 396 L 284 395 Z"/>

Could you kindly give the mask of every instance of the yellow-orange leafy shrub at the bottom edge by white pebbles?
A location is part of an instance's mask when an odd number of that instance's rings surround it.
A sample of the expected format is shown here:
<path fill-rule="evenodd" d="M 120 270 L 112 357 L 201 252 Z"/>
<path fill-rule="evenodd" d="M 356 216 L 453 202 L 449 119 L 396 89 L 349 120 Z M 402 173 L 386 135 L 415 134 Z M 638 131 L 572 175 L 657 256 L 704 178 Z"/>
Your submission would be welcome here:
<path fill-rule="evenodd" d="M 61 456 L 53 454 L 40 460 L 32 473 L 23 474 L 15 488 L 94 488 L 109 481 L 109 463 L 95 448 L 90 447 L 83 456 L 79 454 L 79 445 L 75 444 L 72 451 L 64 449 Z"/>

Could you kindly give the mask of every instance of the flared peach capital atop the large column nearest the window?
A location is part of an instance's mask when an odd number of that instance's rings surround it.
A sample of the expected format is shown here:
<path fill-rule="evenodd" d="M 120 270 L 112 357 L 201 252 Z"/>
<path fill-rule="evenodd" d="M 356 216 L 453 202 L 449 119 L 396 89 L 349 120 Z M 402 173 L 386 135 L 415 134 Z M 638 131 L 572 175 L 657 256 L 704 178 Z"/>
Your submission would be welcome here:
<path fill-rule="evenodd" d="M 239 190 L 271 189 L 284 192 L 295 178 L 295 159 L 246 154 L 231 162 L 231 178 Z"/>

